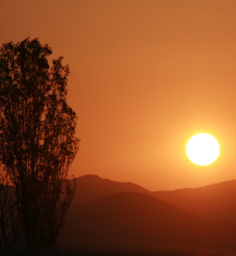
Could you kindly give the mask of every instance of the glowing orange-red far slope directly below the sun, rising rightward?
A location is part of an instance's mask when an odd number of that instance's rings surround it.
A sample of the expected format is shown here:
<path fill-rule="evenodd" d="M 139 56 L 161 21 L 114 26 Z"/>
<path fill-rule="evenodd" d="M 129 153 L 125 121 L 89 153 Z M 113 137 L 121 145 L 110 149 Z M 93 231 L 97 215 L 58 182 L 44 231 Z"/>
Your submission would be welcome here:
<path fill-rule="evenodd" d="M 198 188 L 157 191 L 154 195 L 210 220 L 236 222 L 236 180 Z"/>

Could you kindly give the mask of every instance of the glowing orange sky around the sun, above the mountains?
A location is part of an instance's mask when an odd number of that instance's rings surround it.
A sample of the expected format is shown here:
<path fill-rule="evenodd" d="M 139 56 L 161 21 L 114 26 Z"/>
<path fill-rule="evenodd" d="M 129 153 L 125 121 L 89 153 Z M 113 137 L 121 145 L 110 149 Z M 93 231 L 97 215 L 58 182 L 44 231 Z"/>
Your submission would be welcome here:
<path fill-rule="evenodd" d="M 98 174 L 150 190 L 236 178 L 236 2 L 8 0 L 0 43 L 39 38 L 71 74 L 80 151 L 70 174 Z M 195 166 L 198 132 L 221 154 Z"/>

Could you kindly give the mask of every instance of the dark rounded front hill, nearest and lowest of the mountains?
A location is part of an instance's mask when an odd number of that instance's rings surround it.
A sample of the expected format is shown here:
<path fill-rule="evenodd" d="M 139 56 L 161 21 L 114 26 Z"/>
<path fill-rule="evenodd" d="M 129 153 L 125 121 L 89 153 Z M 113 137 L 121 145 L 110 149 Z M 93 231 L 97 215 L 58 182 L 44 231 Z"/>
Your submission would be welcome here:
<path fill-rule="evenodd" d="M 72 205 L 60 242 L 74 250 L 194 251 L 234 245 L 234 232 L 225 231 L 148 194 L 123 192 Z"/>

